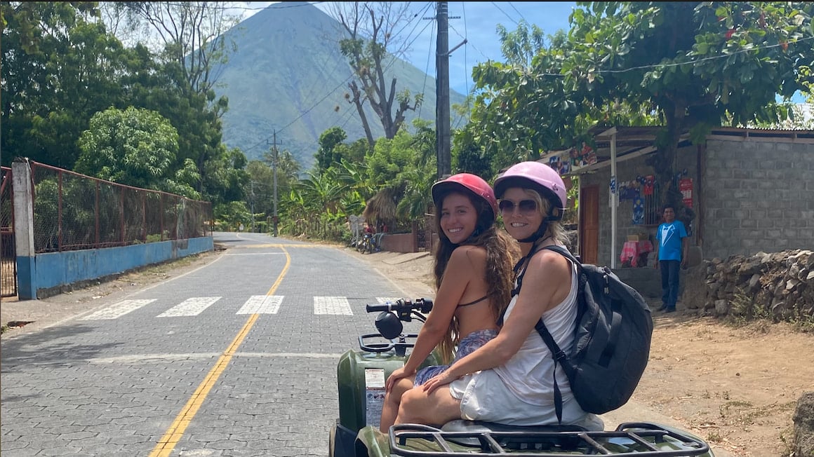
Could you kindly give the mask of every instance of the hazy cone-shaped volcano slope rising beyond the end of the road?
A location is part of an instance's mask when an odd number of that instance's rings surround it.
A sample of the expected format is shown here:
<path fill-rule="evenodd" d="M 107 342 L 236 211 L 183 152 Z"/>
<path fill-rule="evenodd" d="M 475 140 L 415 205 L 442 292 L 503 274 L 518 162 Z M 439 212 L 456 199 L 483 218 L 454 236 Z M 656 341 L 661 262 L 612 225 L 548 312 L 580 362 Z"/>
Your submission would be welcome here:
<path fill-rule="evenodd" d="M 275 3 L 230 29 L 226 38 L 237 50 L 213 72 L 217 95 L 229 98 L 225 144 L 256 159 L 269 150 L 276 129 L 278 148 L 291 150 L 305 171 L 326 129 L 344 128 L 348 141 L 364 138 L 356 107 L 344 98 L 352 70 L 339 53 L 340 36 L 339 22 L 308 2 Z M 420 110 L 408 111 L 407 125 L 419 115 L 434 123 L 435 79 L 400 59 L 387 69 L 388 85 L 394 75 L 398 91 L 424 94 Z M 464 101 L 450 91 L 451 104 Z M 381 137 L 378 117 L 367 110 L 374 137 Z"/>

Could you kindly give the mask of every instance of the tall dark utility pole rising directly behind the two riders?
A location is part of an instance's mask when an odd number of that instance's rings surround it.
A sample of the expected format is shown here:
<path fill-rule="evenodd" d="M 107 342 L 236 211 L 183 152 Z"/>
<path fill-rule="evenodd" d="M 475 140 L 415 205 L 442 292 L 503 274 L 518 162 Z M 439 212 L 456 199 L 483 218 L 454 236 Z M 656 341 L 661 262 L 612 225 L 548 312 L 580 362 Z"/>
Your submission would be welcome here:
<path fill-rule="evenodd" d="M 436 5 L 438 36 L 435 38 L 435 145 L 438 154 L 438 179 L 443 179 L 452 173 L 449 154 L 449 9 L 447 2 L 436 2 Z"/>

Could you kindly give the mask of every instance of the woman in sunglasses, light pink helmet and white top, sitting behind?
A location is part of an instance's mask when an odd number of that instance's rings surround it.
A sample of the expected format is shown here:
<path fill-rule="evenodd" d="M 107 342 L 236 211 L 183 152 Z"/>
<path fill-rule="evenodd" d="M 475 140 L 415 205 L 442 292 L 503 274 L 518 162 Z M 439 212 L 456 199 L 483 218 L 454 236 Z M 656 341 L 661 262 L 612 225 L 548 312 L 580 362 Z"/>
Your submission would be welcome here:
<path fill-rule="evenodd" d="M 523 252 L 515 267 L 523 275 L 522 284 L 515 281 L 497 337 L 421 389 L 406 393 L 396 424 L 441 425 L 466 419 L 601 430 L 602 420 L 576 403 L 565 372 L 555 369 L 535 329 L 542 318 L 560 348 L 571 350 L 577 317 L 576 266 L 556 252 L 540 250 L 565 241 L 560 223 L 566 202 L 562 178 L 544 163 L 517 163 L 497 178 L 495 190 L 506 231 Z M 442 386 L 447 387 L 439 389 Z M 562 397 L 562 417 L 556 414 L 557 395 Z"/>

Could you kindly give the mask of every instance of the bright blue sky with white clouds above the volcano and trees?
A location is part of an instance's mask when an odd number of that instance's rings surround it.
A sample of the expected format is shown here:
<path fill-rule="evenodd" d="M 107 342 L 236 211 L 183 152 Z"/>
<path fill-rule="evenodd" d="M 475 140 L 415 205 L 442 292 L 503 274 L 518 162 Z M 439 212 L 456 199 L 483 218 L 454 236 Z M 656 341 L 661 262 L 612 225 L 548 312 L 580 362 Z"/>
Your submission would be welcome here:
<path fill-rule="evenodd" d="M 243 17 L 254 14 L 271 2 L 235 2 L 243 7 Z M 317 8 L 328 12 L 328 2 L 312 2 Z M 422 13 L 405 27 L 409 33 L 405 39 L 412 42 L 405 59 L 431 76 L 435 76 L 434 20 L 422 20 L 435 16 L 435 2 L 409 2 L 416 13 Z M 449 49 L 467 39 L 449 57 L 449 87 L 466 94 L 472 86 L 472 67 L 489 59 L 503 61 L 501 42 L 497 37 L 497 24 L 512 31 L 520 20 L 536 24 L 547 34 L 568 28 L 568 15 L 575 2 L 449 2 Z M 460 16 L 454 18 L 454 16 Z M 418 23 L 418 24 L 417 24 Z M 429 63 L 427 63 L 429 61 Z"/>

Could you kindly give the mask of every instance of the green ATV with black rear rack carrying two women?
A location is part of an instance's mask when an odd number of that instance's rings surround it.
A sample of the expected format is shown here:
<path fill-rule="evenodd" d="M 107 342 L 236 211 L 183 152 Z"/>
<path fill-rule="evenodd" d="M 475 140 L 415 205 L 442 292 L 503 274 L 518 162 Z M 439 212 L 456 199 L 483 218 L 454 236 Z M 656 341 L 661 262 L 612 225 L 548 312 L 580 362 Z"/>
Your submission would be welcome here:
<path fill-rule="evenodd" d="M 359 337 L 360 350 L 339 359 L 339 419 L 330 429 L 330 457 L 391 457 L 457 455 L 630 455 L 652 457 L 712 457 L 699 437 L 661 424 L 628 422 L 615 430 L 590 432 L 573 426 L 519 427 L 472 420 L 453 420 L 441 429 L 422 424 L 399 424 L 379 432 L 384 382 L 407 359 L 417 333 L 403 333 L 402 322 L 423 322 L 432 301 L 403 298 L 367 305 L 379 312 L 376 329 Z M 431 355 L 422 366 L 438 364 Z"/>

